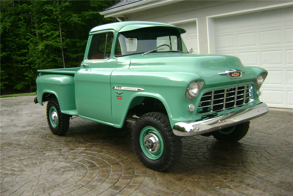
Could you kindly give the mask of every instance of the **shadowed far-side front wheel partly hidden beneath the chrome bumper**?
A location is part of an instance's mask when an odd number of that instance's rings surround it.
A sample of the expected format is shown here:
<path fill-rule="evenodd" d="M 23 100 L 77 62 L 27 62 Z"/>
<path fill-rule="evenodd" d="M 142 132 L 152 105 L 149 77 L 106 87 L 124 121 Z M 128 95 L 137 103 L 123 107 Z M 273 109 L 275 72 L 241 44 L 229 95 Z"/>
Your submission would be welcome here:
<path fill-rule="evenodd" d="M 232 127 L 227 127 L 218 131 L 212 132 L 216 140 L 224 142 L 237 142 L 241 140 L 248 132 L 250 122 L 241 123 Z"/>

